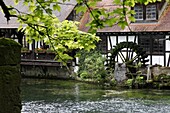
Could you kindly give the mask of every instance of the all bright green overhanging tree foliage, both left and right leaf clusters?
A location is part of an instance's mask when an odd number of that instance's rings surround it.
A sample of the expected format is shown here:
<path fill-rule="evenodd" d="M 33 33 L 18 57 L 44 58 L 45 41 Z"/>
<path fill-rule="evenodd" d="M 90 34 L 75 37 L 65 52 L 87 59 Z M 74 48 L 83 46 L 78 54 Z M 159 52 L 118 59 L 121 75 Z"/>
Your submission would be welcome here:
<path fill-rule="evenodd" d="M 70 0 L 13 0 L 15 4 L 23 3 L 28 8 L 28 12 L 22 12 L 15 9 L 14 6 L 3 7 L 3 1 L 0 2 L 7 20 L 10 16 L 15 16 L 21 23 L 20 29 L 25 31 L 27 40 L 45 40 L 56 53 L 56 59 L 66 63 L 72 59 L 67 53 L 72 50 L 87 50 L 95 48 L 95 42 L 99 38 L 94 34 L 84 33 L 78 30 L 78 22 L 63 21 L 53 15 L 54 11 L 60 11 L 60 5 L 67 5 Z M 97 8 L 97 3 L 102 0 L 76 0 L 78 6 L 77 13 L 89 11 L 91 22 L 89 32 L 95 33 L 97 29 L 104 28 L 106 25 L 113 26 L 118 24 L 122 29 L 128 26 L 129 22 L 135 21 L 132 16 L 135 14 L 130 7 L 136 3 L 152 3 L 160 0 L 113 0 L 120 8 L 107 11 L 104 8 Z M 128 20 L 128 21 L 127 21 Z"/>

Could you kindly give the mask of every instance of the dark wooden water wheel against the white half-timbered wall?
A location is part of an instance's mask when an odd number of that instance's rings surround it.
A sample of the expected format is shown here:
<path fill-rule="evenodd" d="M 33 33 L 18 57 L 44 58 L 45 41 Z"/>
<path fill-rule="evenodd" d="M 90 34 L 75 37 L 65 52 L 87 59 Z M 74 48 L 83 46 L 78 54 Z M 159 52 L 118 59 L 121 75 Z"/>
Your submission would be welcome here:
<path fill-rule="evenodd" d="M 108 68 L 114 71 L 115 63 L 125 63 L 131 73 L 135 73 L 136 67 L 146 66 L 148 55 L 134 42 L 120 42 L 110 51 Z"/>

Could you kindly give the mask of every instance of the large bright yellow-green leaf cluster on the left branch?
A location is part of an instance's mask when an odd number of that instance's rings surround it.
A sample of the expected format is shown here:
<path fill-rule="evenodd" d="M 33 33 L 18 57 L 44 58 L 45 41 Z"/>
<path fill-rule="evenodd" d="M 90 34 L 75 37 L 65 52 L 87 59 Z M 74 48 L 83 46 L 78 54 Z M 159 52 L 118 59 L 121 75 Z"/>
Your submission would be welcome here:
<path fill-rule="evenodd" d="M 60 5 L 66 0 L 14 0 L 15 4 L 22 2 L 28 12 L 18 9 L 10 10 L 12 15 L 16 15 L 20 22 L 19 30 L 25 32 L 27 41 L 44 40 L 46 45 L 50 45 L 56 53 L 58 61 L 67 63 L 73 59 L 69 52 L 73 50 L 87 50 L 95 48 L 95 43 L 100 39 L 95 34 L 90 34 L 78 30 L 79 23 L 76 21 L 62 21 L 53 15 L 53 11 L 60 11 Z M 12 6 L 10 6 L 12 7 Z M 16 11 L 15 11 L 15 10 Z"/>

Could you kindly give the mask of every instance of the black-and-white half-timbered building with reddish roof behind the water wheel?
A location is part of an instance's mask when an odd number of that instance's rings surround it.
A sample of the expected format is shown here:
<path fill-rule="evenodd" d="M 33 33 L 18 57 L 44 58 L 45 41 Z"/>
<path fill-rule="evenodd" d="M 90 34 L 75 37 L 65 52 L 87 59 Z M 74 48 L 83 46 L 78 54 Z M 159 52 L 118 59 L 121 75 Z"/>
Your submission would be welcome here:
<path fill-rule="evenodd" d="M 102 0 L 97 7 L 112 11 L 118 6 L 113 5 L 112 0 Z M 118 25 L 113 25 L 112 27 L 105 26 L 105 28 L 97 31 L 97 35 L 102 40 L 98 44 L 98 49 L 106 56 L 109 56 L 110 51 L 120 42 L 134 42 L 140 45 L 148 54 L 148 64 L 170 66 L 169 4 L 162 0 L 148 5 L 136 4 L 132 9 L 136 12 L 133 15 L 136 21 L 129 23 L 129 26 L 125 29 L 121 29 Z M 80 29 L 88 31 L 85 24 L 89 21 L 89 12 L 86 12 L 81 20 Z M 130 57 L 131 50 L 132 48 L 122 49 L 121 54 Z M 127 52 L 129 55 L 126 55 Z M 119 62 L 119 59 L 117 58 L 116 60 Z"/>

